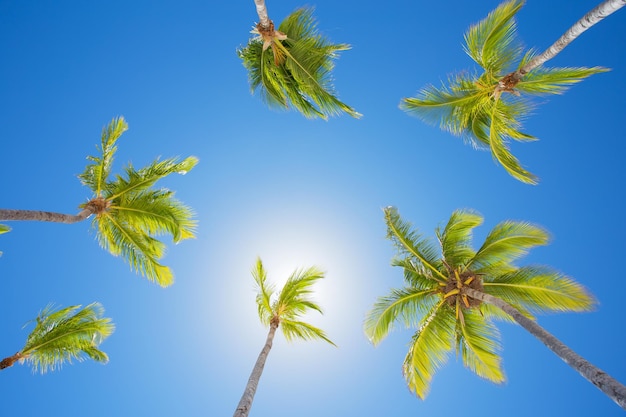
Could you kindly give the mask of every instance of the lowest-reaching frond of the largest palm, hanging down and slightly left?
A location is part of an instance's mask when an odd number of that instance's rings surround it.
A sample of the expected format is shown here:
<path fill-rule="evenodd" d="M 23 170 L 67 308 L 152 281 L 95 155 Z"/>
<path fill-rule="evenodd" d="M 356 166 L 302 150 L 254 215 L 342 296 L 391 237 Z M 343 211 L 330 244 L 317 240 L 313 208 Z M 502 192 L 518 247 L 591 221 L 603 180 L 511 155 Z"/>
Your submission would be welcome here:
<path fill-rule="evenodd" d="M 434 374 L 445 365 L 454 347 L 454 311 L 445 302 L 424 317 L 409 344 L 402 373 L 409 389 L 426 398 Z"/>

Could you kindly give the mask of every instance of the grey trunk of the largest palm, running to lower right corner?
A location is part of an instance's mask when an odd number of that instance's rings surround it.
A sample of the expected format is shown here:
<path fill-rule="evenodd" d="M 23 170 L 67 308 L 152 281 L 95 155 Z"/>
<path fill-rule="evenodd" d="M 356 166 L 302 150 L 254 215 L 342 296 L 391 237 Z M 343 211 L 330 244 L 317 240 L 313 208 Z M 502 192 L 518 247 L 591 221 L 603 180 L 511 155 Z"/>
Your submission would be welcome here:
<path fill-rule="evenodd" d="M 495 305 L 509 316 L 513 317 L 519 325 L 528 330 L 552 352 L 556 353 L 561 359 L 563 359 L 563 361 L 565 361 L 565 363 L 578 371 L 578 373 L 580 373 L 585 379 L 598 387 L 609 398 L 626 410 L 626 386 L 622 385 L 619 381 L 615 380 L 613 377 L 591 364 L 585 358 L 578 355 L 576 352 L 563 344 L 559 339 L 548 333 L 543 327 L 524 316 L 516 308 L 512 307 L 500 298 L 468 287 L 465 287 L 463 291 L 472 298 Z"/>

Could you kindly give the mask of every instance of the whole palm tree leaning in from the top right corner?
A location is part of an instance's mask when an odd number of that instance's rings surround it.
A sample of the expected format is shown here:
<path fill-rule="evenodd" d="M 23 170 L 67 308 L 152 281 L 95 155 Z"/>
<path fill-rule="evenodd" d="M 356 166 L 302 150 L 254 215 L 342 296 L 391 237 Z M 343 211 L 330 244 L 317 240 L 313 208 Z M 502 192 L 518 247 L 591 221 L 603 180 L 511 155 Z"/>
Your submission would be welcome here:
<path fill-rule="evenodd" d="M 482 68 L 482 73 L 459 73 L 449 85 L 429 85 L 416 97 L 405 98 L 400 108 L 454 135 L 462 136 L 478 149 L 490 149 L 495 161 L 514 178 L 529 184 L 538 179 L 522 167 L 509 150 L 509 139 L 533 141 L 521 132 L 522 120 L 534 105 L 530 96 L 563 93 L 570 85 L 605 68 L 544 68 L 541 65 L 582 33 L 590 24 L 623 6 L 624 0 L 606 1 L 585 15 L 543 54 L 523 52 L 517 39 L 515 14 L 522 0 L 502 3 L 465 34 L 465 51 Z M 567 42 L 567 43 L 566 43 Z M 507 74 L 511 68 L 517 70 Z M 508 94 L 505 94 L 508 93 Z"/>

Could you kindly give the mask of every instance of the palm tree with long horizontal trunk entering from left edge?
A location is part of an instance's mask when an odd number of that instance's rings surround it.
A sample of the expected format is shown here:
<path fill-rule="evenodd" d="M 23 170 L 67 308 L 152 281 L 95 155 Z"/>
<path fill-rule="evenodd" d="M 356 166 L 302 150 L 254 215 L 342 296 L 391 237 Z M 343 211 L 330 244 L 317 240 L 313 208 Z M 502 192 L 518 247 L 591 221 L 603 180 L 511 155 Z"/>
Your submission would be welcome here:
<path fill-rule="evenodd" d="M 189 172 L 198 159 L 155 160 L 141 169 L 129 164 L 125 176 L 111 179 L 116 142 L 127 129 L 123 117 L 114 118 L 103 129 L 101 156 L 90 156 L 91 163 L 79 175 L 93 196 L 79 206 L 82 210 L 78 214 L 0 209 L 0 220 L 76 223 L 94 215 L 92 226 L 100 246 L 114 256 L 122 255 L 135 271 L 165 287 L 174 282 L 174 275 L 159 263 L 166 245 L 156 237 L 167 234 L 174 242 L 194 237 L 196 221 L 191 209 L 174 198 L 173 191 L 154 184 L 169 174 Z"/>

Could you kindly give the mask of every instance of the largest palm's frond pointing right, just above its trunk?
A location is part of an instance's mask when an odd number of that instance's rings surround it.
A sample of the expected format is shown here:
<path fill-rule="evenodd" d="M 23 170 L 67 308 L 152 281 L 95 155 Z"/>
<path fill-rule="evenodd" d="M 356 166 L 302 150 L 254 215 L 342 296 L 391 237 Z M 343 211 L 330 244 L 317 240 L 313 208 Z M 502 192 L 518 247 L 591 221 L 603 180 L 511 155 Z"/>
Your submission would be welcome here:
<path fill-rule="evenodd" d="M 484 285 L 486 293 L 530 312 L 589 311 L 595 306 L 582 285 L 547 266 L 521 267 Z"/>

